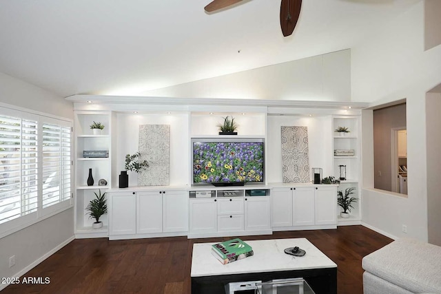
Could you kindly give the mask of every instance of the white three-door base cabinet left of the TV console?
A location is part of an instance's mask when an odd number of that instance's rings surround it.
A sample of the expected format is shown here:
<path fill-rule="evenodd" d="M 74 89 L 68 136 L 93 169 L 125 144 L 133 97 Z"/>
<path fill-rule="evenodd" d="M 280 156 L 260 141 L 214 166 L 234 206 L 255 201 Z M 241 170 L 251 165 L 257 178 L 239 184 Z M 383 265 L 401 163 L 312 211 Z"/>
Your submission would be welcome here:
<path fill-rule="evenodd" d="M 187 191 L 109 192 L 109 239 L 187 235 Z"/>

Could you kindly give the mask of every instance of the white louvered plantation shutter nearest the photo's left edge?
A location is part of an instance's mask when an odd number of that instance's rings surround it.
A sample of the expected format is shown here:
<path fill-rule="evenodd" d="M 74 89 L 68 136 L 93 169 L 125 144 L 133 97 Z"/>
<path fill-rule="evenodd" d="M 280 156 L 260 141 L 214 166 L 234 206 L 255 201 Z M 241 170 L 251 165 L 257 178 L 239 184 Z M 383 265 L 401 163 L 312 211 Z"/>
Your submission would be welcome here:
<path fill-rule="evenodd" d="M 37 121 L 0 115 L 0 223 L 37 211 Z"/>

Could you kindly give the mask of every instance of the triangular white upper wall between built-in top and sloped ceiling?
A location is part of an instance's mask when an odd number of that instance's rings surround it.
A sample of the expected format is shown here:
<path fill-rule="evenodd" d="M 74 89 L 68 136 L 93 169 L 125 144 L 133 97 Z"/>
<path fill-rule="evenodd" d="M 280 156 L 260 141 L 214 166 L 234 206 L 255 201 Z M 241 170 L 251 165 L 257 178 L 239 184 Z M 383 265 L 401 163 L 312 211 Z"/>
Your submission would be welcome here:
<path fill-rule="evenodd" d="M 350 101 L 351 52 L 342 50 L 143 93 L 179 98 Z"/>

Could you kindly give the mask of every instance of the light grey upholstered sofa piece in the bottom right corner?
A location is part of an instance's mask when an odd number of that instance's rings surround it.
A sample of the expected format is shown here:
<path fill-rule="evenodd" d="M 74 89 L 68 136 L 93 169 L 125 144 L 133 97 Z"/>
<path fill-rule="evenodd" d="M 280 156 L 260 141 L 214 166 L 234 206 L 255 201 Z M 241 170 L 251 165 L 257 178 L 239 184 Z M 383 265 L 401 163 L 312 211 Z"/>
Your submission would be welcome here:
<path fill-rule="evenodd" d="M 441 247 L 402 238 L 362 259 L 364 294 L 441 293 Z"/>

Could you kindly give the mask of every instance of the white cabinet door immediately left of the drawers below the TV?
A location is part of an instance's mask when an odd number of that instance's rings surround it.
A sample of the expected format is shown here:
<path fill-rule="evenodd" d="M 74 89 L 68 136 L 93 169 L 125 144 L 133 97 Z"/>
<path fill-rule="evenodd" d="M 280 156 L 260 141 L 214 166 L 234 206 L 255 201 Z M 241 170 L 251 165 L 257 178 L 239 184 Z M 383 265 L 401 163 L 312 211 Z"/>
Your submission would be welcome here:
<path fill-rule="evenodd" d="M 217 200 L 193 198 L 189 202 L 190 233 L 215 233 L 218 230 Z"/>

